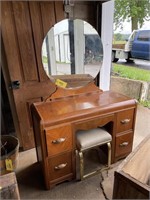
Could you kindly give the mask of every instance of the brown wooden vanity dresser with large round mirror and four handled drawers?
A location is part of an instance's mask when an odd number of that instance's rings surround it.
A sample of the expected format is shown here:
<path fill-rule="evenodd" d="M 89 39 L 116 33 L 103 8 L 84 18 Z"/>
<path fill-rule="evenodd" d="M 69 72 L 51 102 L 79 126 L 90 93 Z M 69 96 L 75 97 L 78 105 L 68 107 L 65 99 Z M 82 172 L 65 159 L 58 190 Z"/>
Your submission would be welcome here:
<path fill-rule="evenodd" d="M 112 163 L 132 151 L 136 101 L 96 86 L 102 60 L 97 31 L 80 19 L 55 24 L 43 42 L 43 66 L 56 89 L 43 102 L 34 103 L 31 111 L 47 189 L 76 178 L 78 130 L 104 127 L 112 135 Z"/>

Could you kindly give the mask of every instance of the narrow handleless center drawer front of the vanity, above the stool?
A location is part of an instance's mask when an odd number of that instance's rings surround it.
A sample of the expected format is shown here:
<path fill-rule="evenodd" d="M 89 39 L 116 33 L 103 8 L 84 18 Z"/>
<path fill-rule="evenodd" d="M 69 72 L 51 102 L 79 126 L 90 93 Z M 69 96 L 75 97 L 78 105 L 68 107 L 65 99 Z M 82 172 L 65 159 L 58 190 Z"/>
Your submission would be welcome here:
<path fill-rule="evenodd" d="M 80 121 L 75 123 L 76 130 L 89 130 L 97 128 L 98 126 L 104 126 L 107 123 L 114 121 L 114 115 L 107 115 L 105 117 L 98 117 L 93 119 L 87 119 L 86 121 Z"/>

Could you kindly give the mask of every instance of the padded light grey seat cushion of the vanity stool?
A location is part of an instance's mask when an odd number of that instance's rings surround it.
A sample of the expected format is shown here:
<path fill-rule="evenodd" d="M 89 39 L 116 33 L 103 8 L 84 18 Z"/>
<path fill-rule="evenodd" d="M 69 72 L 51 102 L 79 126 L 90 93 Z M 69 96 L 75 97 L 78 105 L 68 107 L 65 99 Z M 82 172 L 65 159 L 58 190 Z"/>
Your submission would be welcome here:
<path fill-rule="evenodd" d="M 112 140 L 111 135 L 103 128 L 82 130 L 76 133 L 76 145 L 83 151 L 95 146 L 100 146 Z"/>

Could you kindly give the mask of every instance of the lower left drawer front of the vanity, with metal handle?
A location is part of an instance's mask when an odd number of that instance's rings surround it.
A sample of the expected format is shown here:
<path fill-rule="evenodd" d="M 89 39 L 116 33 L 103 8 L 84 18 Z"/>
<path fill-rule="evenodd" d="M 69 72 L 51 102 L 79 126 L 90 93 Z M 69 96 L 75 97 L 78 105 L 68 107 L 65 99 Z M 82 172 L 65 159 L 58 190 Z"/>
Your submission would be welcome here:
<path fill-rule="evenodd" d="M 73 173 L 72 153 L 67 152 L 48 160 L 50 180 Z"/>

